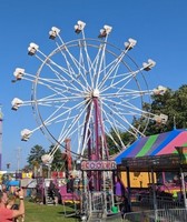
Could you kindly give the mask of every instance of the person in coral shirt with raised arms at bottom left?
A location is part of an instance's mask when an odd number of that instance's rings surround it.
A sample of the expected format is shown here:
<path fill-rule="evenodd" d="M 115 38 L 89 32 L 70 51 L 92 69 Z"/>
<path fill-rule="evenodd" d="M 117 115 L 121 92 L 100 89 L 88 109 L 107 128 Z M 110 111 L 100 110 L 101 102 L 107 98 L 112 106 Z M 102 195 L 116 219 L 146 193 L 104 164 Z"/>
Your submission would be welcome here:
<path fill-rule="evenodd" d="M 0 192 L 0 222 L 10 222 L 24 214 L 23 190 L 16 192 L 16 195 L 19 198 L 20 203 L 18 210 L 12 210 L 7 208 L 9 200 L 7 193 Z"/>

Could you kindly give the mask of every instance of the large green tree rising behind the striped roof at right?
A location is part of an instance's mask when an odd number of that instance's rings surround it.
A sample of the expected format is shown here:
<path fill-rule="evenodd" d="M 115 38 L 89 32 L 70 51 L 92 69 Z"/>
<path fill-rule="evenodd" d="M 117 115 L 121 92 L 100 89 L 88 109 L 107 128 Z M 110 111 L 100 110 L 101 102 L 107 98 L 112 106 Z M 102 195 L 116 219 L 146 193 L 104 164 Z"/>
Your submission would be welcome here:
<path fill-rule="evenodd" d="M 168 115 L 166 124 L 158 124 L 150 121 L 146 135 L 170 131 L 175 128 L 187 128 L 187 85 L 181 85 L 178 90 L 168 89 L 164 95 L 152 95 L 152 103 L 149 105 L 150 112 L 155 114 L 164 113 Z"/>

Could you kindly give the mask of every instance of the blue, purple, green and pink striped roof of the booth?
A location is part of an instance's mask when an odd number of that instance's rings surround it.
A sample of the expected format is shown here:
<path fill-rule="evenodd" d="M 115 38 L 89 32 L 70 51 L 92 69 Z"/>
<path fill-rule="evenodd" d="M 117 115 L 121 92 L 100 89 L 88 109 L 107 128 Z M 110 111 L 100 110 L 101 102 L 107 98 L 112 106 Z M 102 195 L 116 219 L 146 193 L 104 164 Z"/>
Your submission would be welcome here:
<path fill-rule="evenodd" d="M 129 158 L 140 158 L 142 160 L 147 157 L 150 160 L 158 155 L 168 157 L 168 154 L 171 154 L 175 157 L 174 153 L 177 153 L 175 147 L 185 145 L 187 145 L 187 130 L 175 129 L 169 132 L 139 138 L 130 147 L 115 157 L 114 160 L 117 164 L 121 164 L 122 160 Z"/>

